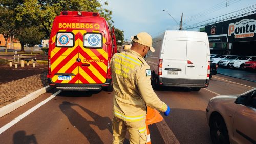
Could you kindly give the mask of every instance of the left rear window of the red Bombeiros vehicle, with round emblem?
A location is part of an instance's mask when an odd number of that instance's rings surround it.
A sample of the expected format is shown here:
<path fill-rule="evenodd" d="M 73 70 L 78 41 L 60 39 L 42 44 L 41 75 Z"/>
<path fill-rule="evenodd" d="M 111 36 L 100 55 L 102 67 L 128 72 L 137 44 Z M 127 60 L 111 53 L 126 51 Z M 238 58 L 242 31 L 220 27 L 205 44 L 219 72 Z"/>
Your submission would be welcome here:
<path fill-rule="evenodd" d="M 56 34 L 56 47 L 74 47 L 74 43 L 72 32 L 58 32 Z"/>

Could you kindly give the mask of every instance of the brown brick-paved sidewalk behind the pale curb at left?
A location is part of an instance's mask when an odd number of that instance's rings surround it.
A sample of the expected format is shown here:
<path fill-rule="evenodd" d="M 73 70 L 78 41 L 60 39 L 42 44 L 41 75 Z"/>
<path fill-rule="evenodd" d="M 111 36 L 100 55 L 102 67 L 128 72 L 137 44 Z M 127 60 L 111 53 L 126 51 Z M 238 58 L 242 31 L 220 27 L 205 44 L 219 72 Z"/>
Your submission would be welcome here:
<path fill-rule="evenodd" d="M 0 108 L 11 104 L 26 95 L 48 85 L 47 73 L 36 74 L 30 77 L 18 79 L 0 84 Z"/>

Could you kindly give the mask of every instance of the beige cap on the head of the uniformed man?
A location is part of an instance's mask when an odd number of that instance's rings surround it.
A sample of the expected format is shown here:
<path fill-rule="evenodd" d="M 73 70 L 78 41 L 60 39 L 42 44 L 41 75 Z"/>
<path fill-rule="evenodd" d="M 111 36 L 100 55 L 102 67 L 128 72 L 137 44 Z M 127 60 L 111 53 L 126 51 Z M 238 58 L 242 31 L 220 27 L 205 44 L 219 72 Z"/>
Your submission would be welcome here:
<path fill-rule="evenodd" d="M 144 46 L 150 47 L 151 52 L 155 52 L 155 49 L 152 47 L 152 37 L 146 32 L 140 32 L 133 38 L 134 42 L 138 42 Z"/>

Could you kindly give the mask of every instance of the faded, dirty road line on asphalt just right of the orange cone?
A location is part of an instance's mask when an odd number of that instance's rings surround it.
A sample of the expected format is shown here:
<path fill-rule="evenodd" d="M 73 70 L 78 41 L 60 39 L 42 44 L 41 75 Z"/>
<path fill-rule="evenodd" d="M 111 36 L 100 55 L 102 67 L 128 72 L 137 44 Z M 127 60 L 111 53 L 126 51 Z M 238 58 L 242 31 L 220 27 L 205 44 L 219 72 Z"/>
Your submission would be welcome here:
<path fill-rule="evenodd" d="M 164 143 L 180 143 L 164 119 L 163 121 L 156 123 L 156 125 Z"/>

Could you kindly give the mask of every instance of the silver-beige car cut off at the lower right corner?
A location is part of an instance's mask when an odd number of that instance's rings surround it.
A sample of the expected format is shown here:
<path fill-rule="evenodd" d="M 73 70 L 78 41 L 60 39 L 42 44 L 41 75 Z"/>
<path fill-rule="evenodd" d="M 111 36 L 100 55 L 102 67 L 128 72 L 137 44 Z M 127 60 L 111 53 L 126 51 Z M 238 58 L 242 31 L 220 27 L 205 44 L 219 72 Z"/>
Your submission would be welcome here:
<path fill-rule="evenodd" d="M 211 98 L 206 117 L 213 143 L 256 143 L 256 88 Z"/>

